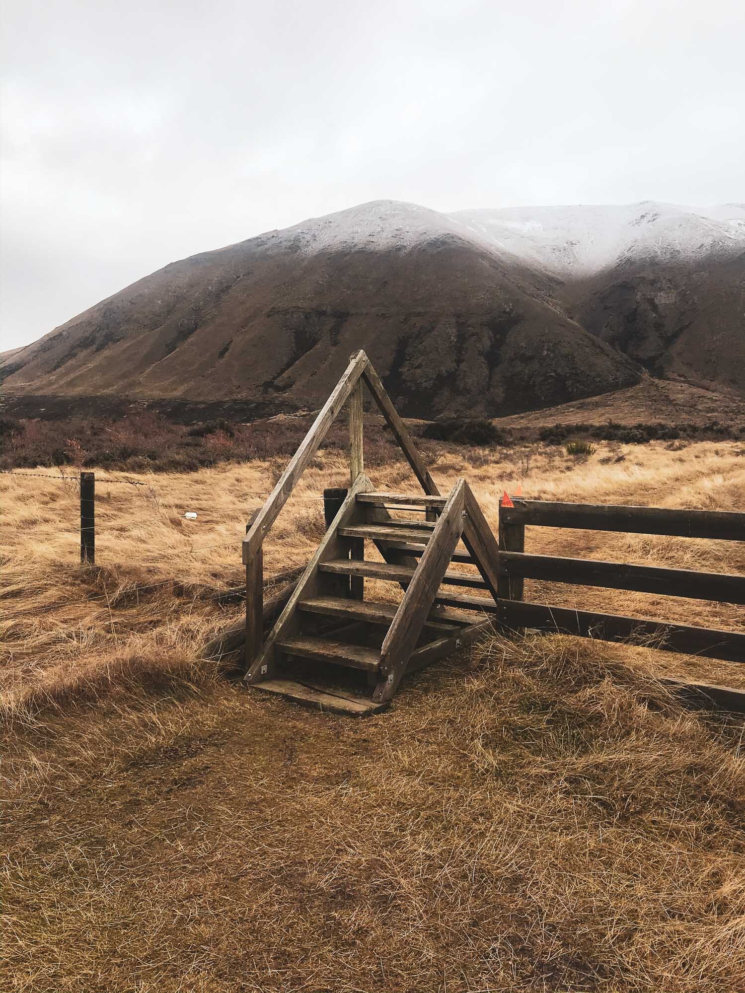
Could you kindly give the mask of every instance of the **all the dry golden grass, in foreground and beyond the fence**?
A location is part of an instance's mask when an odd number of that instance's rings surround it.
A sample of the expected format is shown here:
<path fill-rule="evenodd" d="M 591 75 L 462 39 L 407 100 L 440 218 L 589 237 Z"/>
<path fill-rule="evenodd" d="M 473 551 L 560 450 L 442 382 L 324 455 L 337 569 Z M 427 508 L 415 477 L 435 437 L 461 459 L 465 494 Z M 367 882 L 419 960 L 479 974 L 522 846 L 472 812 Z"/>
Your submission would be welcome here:
<path fill-rule="evenodd" d="M 737 666 L 491 639 L 358 722 L 235 688 L 200 649 L 240 614 L 211 593 L 240 583 L 244 521 L 276 469 L 99 485 L 94 570 L 74 564 L 74 487 L 0 476 L 3 988 L 745 988 L 742 724 L 684 711 L 651 674 L 734 683 Z M 448 452 L 432 472 L 443 490 L 466 475 L 495 525 L 518 482 L 528 497 L 745 509 L 732 444 L 599 446 L 586 463 Z M 317 497 L 346 474 L 338 456 L 308 471 L 268 573 L 308 558 Z M 411 486 L 402 464 L 371 475 Z M 727 542 L 534 528 L 527 547 L 745 572 Z M 726 605 L 528 589 L 744 627 Z"/>

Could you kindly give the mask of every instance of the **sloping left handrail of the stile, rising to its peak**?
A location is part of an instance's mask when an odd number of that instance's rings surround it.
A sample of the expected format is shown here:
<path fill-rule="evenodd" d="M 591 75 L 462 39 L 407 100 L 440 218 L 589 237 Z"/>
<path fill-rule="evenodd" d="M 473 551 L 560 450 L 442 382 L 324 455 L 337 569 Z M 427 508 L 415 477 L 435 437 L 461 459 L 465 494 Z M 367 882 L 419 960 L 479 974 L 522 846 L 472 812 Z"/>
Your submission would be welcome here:
<path fill-rule="evenodd" d="M 293 455 L 272 490 L 266 502 L 259 510 L 251 529 L 243 539 L 243 564 L 247 564 L 255 549 L 262 543 L 264 537 L 274 523 L 279 511 L 292 493 L 295 485 L 305 472 L 308 463 L 318 451 L 321 442 L 334 422 L 339 411 L 344 406 L 350 393 L 355 388 L 361 374 L 368 365 L 368 356 L 359 352 L 351 359 L 347 370 L 334 387 L 329 399 L 321 408 L 318 417 L 311 425 L 300 447 Z"/>

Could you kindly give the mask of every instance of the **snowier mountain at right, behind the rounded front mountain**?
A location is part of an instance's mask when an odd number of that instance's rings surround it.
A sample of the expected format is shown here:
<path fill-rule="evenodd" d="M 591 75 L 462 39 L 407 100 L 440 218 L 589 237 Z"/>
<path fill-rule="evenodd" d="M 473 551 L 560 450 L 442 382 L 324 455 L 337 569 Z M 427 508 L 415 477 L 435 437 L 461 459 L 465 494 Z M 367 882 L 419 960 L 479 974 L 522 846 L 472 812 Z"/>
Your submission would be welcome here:
<path fill-rule="evenodd" d="M 564 312 L 650 372 L 745 392 L 745 205 L 454 216 L 559 279 Z"/>

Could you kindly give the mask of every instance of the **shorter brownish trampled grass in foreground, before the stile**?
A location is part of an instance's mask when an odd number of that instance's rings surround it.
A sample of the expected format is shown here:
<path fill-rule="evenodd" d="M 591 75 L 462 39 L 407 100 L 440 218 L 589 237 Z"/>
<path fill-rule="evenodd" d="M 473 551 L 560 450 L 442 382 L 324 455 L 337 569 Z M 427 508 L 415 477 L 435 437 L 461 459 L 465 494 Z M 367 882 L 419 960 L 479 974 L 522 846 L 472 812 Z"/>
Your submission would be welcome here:
<path fill-rule="evenodd" d="M 10 759 L 6 988 L 735 993 L 740 735 L 560 637 L 365 722 L 220 686 L 57 718 Z"/>

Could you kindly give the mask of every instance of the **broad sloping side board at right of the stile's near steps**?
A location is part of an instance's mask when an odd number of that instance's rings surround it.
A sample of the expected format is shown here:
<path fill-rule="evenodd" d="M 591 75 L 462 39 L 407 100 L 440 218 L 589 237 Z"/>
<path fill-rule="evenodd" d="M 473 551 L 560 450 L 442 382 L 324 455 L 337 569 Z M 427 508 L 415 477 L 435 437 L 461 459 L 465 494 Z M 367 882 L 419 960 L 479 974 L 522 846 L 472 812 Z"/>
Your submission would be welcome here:
<path fill-rule="evenodd" d="M 459 480 L 434 526 L 411 582 L 398 605 L 380 649 L 380 681 L 373 700 L 384 702 L 395 692 L 406 663 L 432 609 L 434 596 L 450 565 L 450 556 L 463 531 L 465 483 Z"/>

